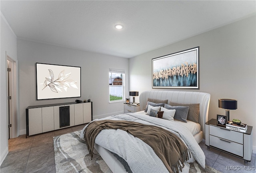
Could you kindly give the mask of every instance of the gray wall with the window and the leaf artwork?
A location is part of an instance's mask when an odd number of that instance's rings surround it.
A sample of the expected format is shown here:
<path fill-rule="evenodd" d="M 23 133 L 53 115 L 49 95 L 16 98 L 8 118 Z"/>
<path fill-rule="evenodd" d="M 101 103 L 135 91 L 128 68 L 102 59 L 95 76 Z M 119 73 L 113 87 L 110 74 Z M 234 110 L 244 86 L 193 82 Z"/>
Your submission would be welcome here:
<path fill-rule="evenodd" d="M 49 44 L 17 39 L 20 134 L 26 132 L 25 109 L 31 105 L 73 102 L 91 99 L 93 116 L 106 117 L 123 113 L 123 102 L 109 103 L 108 70 L 125 70 L 126 97 L 129 87 L 127 58 L 96 54 Z M 36 62 L 81 67 L 81 97 L 36 100 Z"/>

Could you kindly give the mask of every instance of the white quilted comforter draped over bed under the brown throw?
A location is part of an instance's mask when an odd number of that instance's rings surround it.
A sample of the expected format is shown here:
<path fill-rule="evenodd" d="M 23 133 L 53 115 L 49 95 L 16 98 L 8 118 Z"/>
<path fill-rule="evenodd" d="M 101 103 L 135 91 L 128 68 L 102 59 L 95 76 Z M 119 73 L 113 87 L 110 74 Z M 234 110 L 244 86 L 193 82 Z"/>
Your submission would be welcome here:
<path fill-rule="evenodd" d="M 172 131 L 172 133 L 178 135 L 188 146 L 188 149 L 192 153 L 192 158 L 187 161 L 188 163 L 197 160 L 202 167 L 204 167 L 205 165 L 204 153 L 194 139 L 193 135 L 190 133 L 190 129 L 183 125 L 180 125 L 179 123 L 156 117 L 150 117 L 147 115 L 138 115 L 138 113 L 120 114 L 102 119 L 126 120 L 144 123 L 148 125 L 161 125 L 161 127 Z M 80 134 L 81 138 L 84 137 L 84 129 Z M 125 141 L 126 139 L 128 140 Z M 152 170 L 154 170 L 154 172 L 156 173 L 168 172 L 166 167 L 163 166 L 163 163 L 159 159 L 159 157 L 157 157 L 154 151 L 152 151 L 151 147 L 148 147 L 146 143 L 138 138 L 136 138 L 135 141 L 130 139 L 134 139 L 134 137 L 132 135 L 129 135 L 125 131 L 105 129 L 98 134 L 95 139 L 95 143 L 122 157 L 128 163 L 132 172 L 148 173 L 152 172 Z M 182 172 L 188 172 L 189 170 L 189 165 L 185 165 L 188 166 L 188 169 L 186 167 L 186 169 L 182 169 Z"/>

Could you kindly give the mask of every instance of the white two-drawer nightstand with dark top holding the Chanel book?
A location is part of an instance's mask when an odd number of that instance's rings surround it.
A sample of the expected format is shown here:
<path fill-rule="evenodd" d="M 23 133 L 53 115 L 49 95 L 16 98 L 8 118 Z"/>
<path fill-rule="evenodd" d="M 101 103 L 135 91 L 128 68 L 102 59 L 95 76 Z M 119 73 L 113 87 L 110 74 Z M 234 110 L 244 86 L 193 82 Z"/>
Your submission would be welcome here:
<path fill-rule="evenodd" d="M 245 133 L 226 129 L 217 125 L 216 119 L 205 123 L 205 145 L 219 149 L 244 159 L 244 164 L 252 157 L 252 126 Z"/>

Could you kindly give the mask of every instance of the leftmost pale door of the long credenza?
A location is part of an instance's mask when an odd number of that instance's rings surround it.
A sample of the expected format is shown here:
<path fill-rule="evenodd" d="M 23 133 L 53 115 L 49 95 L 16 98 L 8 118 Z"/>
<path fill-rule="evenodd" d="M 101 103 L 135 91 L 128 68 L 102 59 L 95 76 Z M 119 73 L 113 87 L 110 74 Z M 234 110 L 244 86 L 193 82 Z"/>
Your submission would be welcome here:
<path fill-rule="evenodd" d="M 42 133 L 42 107 L 28 109 L 29 135 Z"/>

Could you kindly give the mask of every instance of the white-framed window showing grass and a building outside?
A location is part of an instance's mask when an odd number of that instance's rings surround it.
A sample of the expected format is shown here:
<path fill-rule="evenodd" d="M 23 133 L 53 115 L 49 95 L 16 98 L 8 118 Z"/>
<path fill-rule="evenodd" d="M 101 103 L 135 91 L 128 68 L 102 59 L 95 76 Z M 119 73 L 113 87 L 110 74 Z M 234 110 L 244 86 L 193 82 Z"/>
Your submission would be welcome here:
<path fill-rule="evenodd" d="M 109 101 L 124 101 L 124 70 L 109 69 Z"/>

